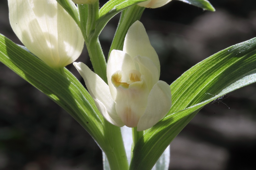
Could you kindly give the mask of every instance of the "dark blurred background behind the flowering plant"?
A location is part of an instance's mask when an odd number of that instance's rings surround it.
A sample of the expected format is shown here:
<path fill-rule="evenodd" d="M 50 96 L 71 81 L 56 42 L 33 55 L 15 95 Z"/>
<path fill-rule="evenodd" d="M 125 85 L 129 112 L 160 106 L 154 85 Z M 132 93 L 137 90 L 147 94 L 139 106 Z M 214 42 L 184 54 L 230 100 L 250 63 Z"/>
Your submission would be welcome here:
<path fill-rule="evenodd" d="M 216 12 L 176 0 L 145 10 L 141 21 L 161 62 L 160 80 L 171 84 L 199 61 L 256 37 L 255 0 L 210 2 Z M 100 36 L 106 55 L 118 17 Z M 6 0 L 0 1 L 0 33 L 21 44 L 10 27 Z M 86 49 L 77 61 L 90 66 Z M 81 80 L 72 65 L 67 68 Z M 256 169 L 255 102 L 256 84 L 252 84 L 205 106 L 171 143 L 170 169 Z M 90 135 L 2 63 L 0 169 L 102 169 L 101 150 Z"/>

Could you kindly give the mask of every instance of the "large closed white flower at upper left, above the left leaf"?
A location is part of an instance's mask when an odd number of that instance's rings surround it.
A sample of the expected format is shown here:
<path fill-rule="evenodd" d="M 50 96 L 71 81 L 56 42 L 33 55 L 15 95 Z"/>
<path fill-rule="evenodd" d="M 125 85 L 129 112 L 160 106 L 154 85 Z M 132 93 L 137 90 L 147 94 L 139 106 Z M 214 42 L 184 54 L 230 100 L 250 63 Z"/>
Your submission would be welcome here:
<path fill-rule="evenodd" d="M 80 56 L 81 30 L 56 0 L 8 0 L 8 6 L 17 37 L 50 67 L 65 67 Z"/>

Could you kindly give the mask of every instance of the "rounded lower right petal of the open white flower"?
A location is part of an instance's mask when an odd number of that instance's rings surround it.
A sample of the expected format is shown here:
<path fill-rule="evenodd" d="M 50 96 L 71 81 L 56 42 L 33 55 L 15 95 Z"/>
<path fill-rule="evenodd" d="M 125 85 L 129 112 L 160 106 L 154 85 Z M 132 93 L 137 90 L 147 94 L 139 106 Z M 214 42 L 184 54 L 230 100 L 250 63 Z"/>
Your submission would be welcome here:
<path fill-rule="evenodd" d="M 172 106 L 171 98 L 170 86 L 159 80 L 150 91 L 147 108 L 138 122 L 137 130 L 142 131 L 151 128 L 163 119 Z"/>

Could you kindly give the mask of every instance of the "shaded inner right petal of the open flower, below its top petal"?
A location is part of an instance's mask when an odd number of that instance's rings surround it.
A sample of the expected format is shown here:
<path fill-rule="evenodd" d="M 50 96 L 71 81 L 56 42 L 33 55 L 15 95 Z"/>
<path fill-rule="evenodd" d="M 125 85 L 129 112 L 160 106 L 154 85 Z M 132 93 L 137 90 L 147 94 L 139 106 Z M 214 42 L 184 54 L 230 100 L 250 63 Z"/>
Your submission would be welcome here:
<path fill-rule="evenodd" d="M 145 81 L 147 82 L 148 89 L 151 90 L 152 87 L 158 82 L 160 73 L 158 72 L 157 67 L 147 57 L 137 56 L 134 58 L 140 68 L 141 75 L 145 76 Z"/>

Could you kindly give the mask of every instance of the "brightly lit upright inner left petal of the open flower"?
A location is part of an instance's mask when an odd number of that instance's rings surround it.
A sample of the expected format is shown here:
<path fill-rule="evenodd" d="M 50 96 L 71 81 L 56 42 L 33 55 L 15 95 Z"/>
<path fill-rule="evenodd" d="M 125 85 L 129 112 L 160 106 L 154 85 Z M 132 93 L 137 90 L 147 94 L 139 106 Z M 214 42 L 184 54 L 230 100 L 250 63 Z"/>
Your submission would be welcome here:
<path fill-rule="evenodd" d="M 107 64 L 107 79 L 108 85 L 110 89 L 111 96 L 113 100 L 116 98 L 116 88 L 111 82 L 111 76 L 116 71 L 123 71 L 124 73 L 128 73 L 130 70 L 135 70 L 135 64 L 132 58 L 120 50 L 112 50 L 109 56 L 108 64 Z"/>

